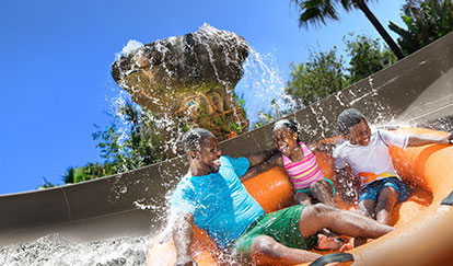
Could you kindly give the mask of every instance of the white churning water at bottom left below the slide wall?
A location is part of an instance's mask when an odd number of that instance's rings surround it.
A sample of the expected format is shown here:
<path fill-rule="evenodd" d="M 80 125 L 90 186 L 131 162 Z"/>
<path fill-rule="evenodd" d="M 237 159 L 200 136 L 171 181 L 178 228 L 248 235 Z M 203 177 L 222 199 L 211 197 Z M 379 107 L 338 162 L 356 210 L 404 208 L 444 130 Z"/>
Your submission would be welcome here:
<path fill-rule="evenodd" d="M 138 266 L 146 264 L 152 236 L 115 238 L 78 243 L 59 234 L 0 250 L 0 265 Z"/>

